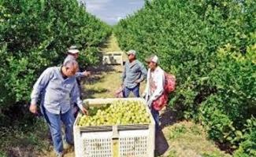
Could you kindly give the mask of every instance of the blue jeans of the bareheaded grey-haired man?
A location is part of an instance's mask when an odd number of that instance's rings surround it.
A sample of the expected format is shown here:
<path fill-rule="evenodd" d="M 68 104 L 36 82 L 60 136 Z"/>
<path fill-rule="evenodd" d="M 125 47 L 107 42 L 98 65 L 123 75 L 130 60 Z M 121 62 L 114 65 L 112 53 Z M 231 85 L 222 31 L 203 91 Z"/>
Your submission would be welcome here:
<path fill-rule="evenodd" d="M 41 105 L 42 106 L 42 105 Z M 54 150 L 57 153 L 63 153 L 63 143 L 61 138 L 61 121 L 65 125 L 65 139 L 69 144 L 73 144 L 72 126 L 75 121 L 72 115 L 72 109 L 64 114 L 54 114 L 47 111 L 45 108 L 41 108 L 47 125 L 50 128 L 50 134 L 54 142 Z"/>

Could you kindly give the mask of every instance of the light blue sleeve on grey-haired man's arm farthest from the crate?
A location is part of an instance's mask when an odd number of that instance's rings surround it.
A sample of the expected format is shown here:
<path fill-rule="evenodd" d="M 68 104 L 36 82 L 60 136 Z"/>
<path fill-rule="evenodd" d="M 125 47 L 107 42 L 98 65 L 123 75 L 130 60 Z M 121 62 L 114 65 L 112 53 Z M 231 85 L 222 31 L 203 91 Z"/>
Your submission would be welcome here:
<path fill-rule="evenodd" d="M 42 75 L 40 75 L 39 79 L 35 82 L 33 86 L 32 94 L 31 94 L 31 104 L 36 104 L 39 100 L 39 95 L 46 88 L 48 82 L 52 77 L 52 68 L 47 68 L 43 71 Z"/>

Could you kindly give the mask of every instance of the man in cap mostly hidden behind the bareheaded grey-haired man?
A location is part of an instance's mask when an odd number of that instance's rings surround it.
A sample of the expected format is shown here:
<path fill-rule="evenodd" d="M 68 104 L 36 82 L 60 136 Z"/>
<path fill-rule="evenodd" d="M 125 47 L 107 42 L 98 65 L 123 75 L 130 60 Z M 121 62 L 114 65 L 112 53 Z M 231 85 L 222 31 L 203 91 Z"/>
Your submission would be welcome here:
<path fill-rule="evenodd" d="M 68 56 L 65 58 L 63 64 L 65 64 L 67 61 L 69 60 L 76 60 L 78 59 L 79 57 L 79 50 L 77 49 L 76 46 L 70 46 L 69 47 L 69 50 L 68 50 Z M 80 97 L 81 97 L 81 86 L 80 86 L 80 79 L 85 77 L 85 76 L 89 76 L 91 75 L 91 72 L 90 71 L 83 71 L 83 72 L 80 72 L 80 69 L 78 68 L 77 71 L 76 71 L 76 82 L 77 82 L 77 85 L 78 85 L 78 88 L 79 88 L 79 92 L 80 92 Z M 76 115 L 79 111 L 79 108 L 77 108 L 77 104 L 72 104 L 72 114 L 74 115 L 74 117 L 76 118 Z"/>

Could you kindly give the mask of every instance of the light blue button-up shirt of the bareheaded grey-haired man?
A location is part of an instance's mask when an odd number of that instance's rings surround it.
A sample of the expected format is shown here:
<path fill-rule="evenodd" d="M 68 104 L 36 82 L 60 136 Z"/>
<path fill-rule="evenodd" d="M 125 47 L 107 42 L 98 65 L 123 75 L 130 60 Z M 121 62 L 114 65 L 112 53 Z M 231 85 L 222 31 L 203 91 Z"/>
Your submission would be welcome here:
<path fill-rule="evenodd" d="M 31 103 L 37 104 L 39 97 L 41 105 L 54 114 L 69 111 L 71 102 L 83 108 L 76 77 L 64 79 L 61 75 L 61 67 L 47 68 L 40 75 L 32 90 Z"/>

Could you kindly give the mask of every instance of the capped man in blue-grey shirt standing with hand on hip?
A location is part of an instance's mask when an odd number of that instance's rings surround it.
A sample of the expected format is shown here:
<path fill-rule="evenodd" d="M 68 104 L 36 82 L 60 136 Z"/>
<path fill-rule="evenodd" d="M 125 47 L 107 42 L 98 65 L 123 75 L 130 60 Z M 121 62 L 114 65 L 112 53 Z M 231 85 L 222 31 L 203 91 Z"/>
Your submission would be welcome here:
<path fill-rule="evenodd" d="M 136 60 L 136 52 L 131 49 L 128 51 L 128 61 L 124 64 L 122 75 L 123 95 L 128 97 L 129 93 L 139 97 L 139 85 L 147 77 L 147 69 L 139 60 Z"/>

